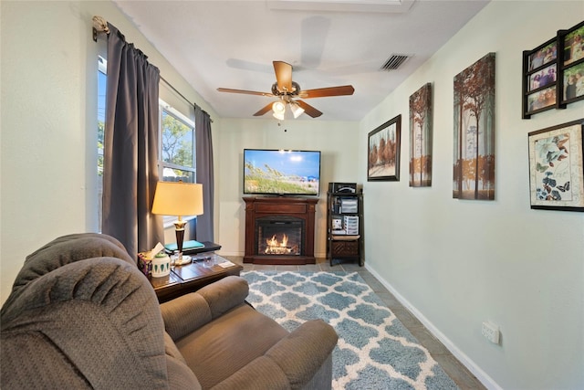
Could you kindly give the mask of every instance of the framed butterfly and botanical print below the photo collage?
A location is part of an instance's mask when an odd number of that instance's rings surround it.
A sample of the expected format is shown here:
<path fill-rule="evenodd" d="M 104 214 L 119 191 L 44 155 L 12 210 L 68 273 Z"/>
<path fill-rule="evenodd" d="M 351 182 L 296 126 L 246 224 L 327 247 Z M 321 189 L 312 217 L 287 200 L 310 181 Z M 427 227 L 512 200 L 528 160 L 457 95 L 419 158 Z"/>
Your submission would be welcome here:
<path fill-rule="evenodd" d="M 584 119 L 528 133 L 531 208 L 584 211 Z"/>

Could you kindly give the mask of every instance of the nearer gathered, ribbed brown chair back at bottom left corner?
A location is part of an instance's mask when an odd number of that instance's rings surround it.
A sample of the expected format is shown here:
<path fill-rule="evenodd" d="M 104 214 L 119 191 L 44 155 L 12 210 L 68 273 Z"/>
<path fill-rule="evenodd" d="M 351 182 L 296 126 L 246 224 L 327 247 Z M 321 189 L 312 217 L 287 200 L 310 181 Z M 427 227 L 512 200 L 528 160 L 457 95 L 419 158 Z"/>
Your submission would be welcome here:
<path fill-rule="evenodd" d="M 166 386 L 158 301 L 124 260 L 89 258 L 48 272 L 0 318 L 3 388 Z"/>

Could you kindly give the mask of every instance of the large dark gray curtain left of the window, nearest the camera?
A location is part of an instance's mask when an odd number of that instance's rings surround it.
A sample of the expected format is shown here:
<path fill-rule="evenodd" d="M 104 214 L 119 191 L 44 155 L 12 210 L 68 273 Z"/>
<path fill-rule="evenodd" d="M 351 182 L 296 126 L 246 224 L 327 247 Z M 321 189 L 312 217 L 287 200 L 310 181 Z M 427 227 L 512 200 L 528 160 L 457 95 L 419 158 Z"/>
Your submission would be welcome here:
<path fill-rule="evenodd" d="M 151 214 L 158 182 L 160 71 L 108 26 L 102 232 L 118 238 L 135 258 L 163 242 L 161 216 Z"/>

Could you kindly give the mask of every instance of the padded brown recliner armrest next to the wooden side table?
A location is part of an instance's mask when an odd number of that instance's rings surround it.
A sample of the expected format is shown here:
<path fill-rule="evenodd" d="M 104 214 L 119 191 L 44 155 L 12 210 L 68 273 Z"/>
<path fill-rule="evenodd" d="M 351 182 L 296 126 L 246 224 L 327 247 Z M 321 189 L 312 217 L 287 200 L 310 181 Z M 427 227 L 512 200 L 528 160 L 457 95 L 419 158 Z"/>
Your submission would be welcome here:
<path fill-rule="evenodd" d="M 225 311 L 245 303 L 247 281 L 228 276 L 203 289 L 161 304 L 164 327 L 176 341 L 213 321 Z"/>

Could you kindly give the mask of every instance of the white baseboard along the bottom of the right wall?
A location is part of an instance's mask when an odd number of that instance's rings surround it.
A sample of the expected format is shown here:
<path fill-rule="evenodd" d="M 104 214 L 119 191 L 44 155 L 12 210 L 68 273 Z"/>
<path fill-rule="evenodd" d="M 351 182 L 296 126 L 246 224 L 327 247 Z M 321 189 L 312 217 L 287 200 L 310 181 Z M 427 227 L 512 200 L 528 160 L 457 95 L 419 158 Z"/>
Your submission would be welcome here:
<path fill-rule="evenodd" d="M 460 363 L 464 364 L 468 370 L 476 376 L 478 379 L 487 389 L 490 390 L 502 390 L 503 388 L 500 385 L 497 385 L 495 380 L 491 378 L 488 374 L 485 373 L 477 364 L 474 363 L 472 359 L 470 359 L 465 353 L 463 353 L 458 347 L 444 335 L 443 332 L 440 332 L 438 328 L 436 328 L 433 323 L 428 320 L 421 311 L 416 309 L 409 300 L 406 300 L 398 290 L 395 290 L 390 283 L 388 283 L 385 279 L 381 278 L 380 274 L 375 271 L 375 269 L 371 269 L 368 264 L 365 264 L 365 269 L 370 271 L 370 273 L 377 278 L 383 286 L 387 290 L 393 294 L 393 296 L 401 302 L 401 304 L 412 312 L 412 314 L 422 322 L 423 326 L 428 329 L 441 343 L 450 351 L 456 359 L 460 361 Z"/>

